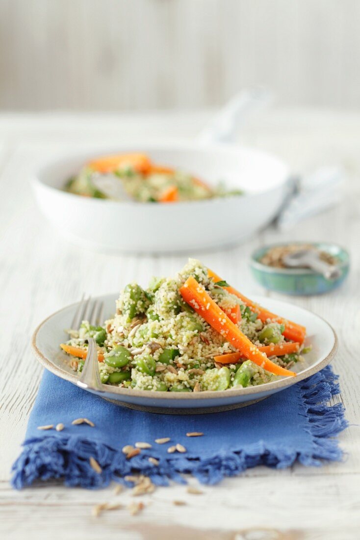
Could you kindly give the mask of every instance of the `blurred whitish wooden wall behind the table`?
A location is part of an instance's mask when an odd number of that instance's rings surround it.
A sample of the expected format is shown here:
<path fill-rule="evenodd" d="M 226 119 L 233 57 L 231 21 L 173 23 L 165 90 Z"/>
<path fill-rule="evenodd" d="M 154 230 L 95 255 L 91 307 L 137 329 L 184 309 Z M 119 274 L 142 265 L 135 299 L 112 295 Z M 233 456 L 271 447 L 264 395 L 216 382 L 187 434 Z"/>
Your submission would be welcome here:
<path fill-rule="evenodd" d="M 360 106 L 358 0 L 0 0 L 0 109 Z"/>

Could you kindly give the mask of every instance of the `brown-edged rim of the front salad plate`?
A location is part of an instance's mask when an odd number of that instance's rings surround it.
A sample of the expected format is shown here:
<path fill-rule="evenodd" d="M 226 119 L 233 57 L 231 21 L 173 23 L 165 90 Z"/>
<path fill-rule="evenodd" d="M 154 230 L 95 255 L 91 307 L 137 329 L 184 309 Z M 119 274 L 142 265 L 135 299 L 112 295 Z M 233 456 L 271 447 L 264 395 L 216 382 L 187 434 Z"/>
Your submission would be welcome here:
<path fill-rule="evenodd" d="M 116 296 L 118 293 L 107 293 L 102 294 L 98 296 L 94 296 L 93 300 L 97 300 L 99 298 L 103 298 L 104 296 Z M 277 299 L 270 299 L 270 300 L 276 300 L 283 303 L 290 303 L 283 300 L 277 300 Z M 72 384 L 75 384 L 77 386 L 77 381 L 79 380 L 79 377 L 76 375 L 72 375 L 70 373 L 67 373 L 65 369 L 62 369 L 54 363 L 49 360 L 38 348 L 36 344 L 37 336 L 42 329 L 42 327 L 45 325 L 49 319 L 53 318 L 54 316 L 58 315 L 62 311 L 65 311 L 66 309 L 69 309 L 73 306 L 78 305 L 79 302 L 73 302 L 67 306 L 64 306 L 63 308 L 58 309 L 57 311 L 53 312 L 49 316 L 47 316 L 42 322 L 39 323 L 39 325 L 34 330 L 32 337 L 31 337 L 31 349 L 33 354 L 35 355 L 36 359 L 42 366 L 44 366 L 47 370 L 49 370 L 54 375 L 60 377 L 60 379 L 64 379 L 68 382 L 71 382 Z M 330 325 L 330 323 L 325 320 L 322 316 L 311 312 L 309 309 L 296 306 L 299 309 L 302 309 L 303 311 L 309 312 L 312 315 L 315 315 L 319 319 L 321 319 L 325 324 L 330 328 L 333 336 L 334 336 L 334 345 L 332 346 L 329 354 L 325 356 L 323 360 L 318 362 L 315 366 L 304 369 L 300 373 L 296 374 L 296 377 L 291 377 L 290 380 L 293 380 L 293 384 L 288 384 L 288 377 L 280 380 L 275 380 L 271 382 L 267 382 L 264 384 L 260 384 L 258 386 L 249 386 L 246 388 L 242 387 L 235 387 L 230 388 L 227 390 L 204 390 L 203 392 L 196 392 L 196 393 L 187 393 L 187 392 L 153 392 L 152 390 L 134 390 L 134 389 L 127 389 L 127 388 L 120 388 L 120 387 L 108 387 L 106 384 L 102 384 L 104 388 L 104 392 L 107 394 L 113 394 L 114 396 L 128 396 L 128 397 L 135 397 L 135 398 L 141 398 L 144 399 L 156 399 L 156 400 L 164 400 L 164 402 L 168 400 L 175 400 L 175 401 L 198 401 L 198 400 L 213 400 L 213 399 L 221 399 L 226 398 L 230 396 L 244 396 L 244 395 L 252 395 L 252 394 L 259 394 L 259 392 L 266 392 L 266 390 L 281 390 L 285 388 L 289 388 L 290 386 L 294 386 L 297 382 L 303 381 L 304 379 L 308 379 L 311 375 L 314 375 L 315 373 L 318 373 L 323 369 L 324 367 L 328 366 L 331 360 L 334 358 L 337 349 L 338 349 L 338 338 L 337 334 L 334 330 L 334 328 Z M 295 382 L 296 381 L 296 382 Z M 112 390 L 110 391 L 110 388 Z M 102 395 L 102 392 L 99 392 L 97 395 Z M 164 403 L 165 404 L 165 403 Z"/>

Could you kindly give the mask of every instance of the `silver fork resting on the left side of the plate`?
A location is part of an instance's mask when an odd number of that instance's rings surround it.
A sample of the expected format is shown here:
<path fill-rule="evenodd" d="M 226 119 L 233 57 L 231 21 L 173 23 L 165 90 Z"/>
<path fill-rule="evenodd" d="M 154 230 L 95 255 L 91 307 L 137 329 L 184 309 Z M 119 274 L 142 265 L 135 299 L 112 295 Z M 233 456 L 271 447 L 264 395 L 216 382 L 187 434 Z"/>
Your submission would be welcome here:
<path fill-rule="evenodd" d="M 96 326 L 103 321 L 104 302 L 99 300 L 91 301 L 91 297 L 85 300 L 85 294 L 81 298 L 74 318 L 71 323 L 71 328 L 79 328 L 81 321 L 89 321 L 91 325 Z M 84 367 L 81 372 L 80 379 L 77 385 L 80 388 L 88 388 L 96 390 L 96 392 L 104 392 L 103 384 L 100 380 L 99 362 L 96 348 L 96 341 L 89 338 L 89 347 L 87 348 Z"/>

